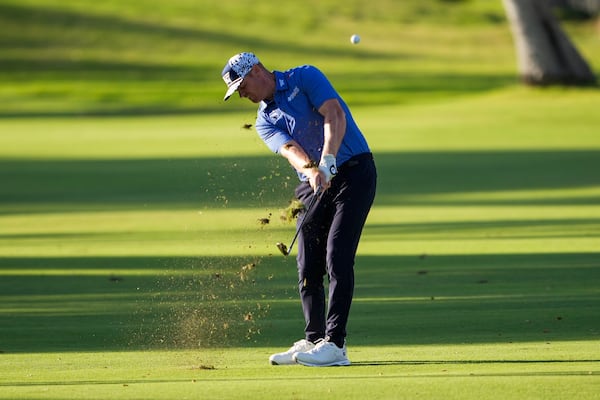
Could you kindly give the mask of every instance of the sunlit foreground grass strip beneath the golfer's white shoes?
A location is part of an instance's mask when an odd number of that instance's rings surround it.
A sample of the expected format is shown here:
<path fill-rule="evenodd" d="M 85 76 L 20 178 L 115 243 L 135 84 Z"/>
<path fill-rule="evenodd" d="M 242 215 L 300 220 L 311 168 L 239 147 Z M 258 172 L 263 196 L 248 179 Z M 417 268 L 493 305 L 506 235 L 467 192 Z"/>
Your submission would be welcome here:
<path fill-rule="evenodd" d="M 294 367 L 282 371 L 265 365 L 262 359 L 273 350 L 49 353 L 27 361 L 3 355 L 14 368 L 2 370 L 4 382 L 11 386 L 4 387 L 0 397 L 235 398 L 243 390 L 246 398 L 308 399 L 325 390 L 334 398 L 360 399 L 366 391 L 378 398 L 397 398 L 401 390 L 413 399 L 489 398 L 489 393 L 499 392 L 528 399 L 591 399 L 596 393 L 595 362 L 571 361 L 589 359 L 587 342 L 406 346 L 401 351 L 355 347 L 364 362 L 327 370 L 327 380 L 336 382 L 328 389 L 306 384 L 322 379 L 321 371 Z"/>

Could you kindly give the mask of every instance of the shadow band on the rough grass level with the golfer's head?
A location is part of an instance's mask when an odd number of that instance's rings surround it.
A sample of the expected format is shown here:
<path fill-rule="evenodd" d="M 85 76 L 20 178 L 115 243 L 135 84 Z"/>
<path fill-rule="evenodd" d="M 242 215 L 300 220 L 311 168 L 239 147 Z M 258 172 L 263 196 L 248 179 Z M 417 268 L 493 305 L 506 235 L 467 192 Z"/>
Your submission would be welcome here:
<path fill-rule="evenodd" d="M 12 70 L 22 71 L 29 60 L 0 59 L 12 65 Z M 186 67 L 149 65 L 126 62 L 74 62 L 41 60 L 46 65 L 31 74 L 40 81 L 79 82 L 79 90 L 56 87 L 40 88 L 41 94 L 21 95 L 25 107 L 0 110 L 0 119 L 9 118 L 64 118 L 64 117 L 114 117 L 160 115 L 208 115 L 239 112 L 254 113 L 250 103 L 235 101 L 225 105 L 221 100 L 222 85 L 214 77 L 220 69 L 211 67 Z M 318 60 L 312 62 L 319 66 Z M 273 66 L 273 69 L 287 69 Z M 325 71 L 327 72 L 327 71 Z M 19 81 L 11 74 L 6 79 Z M 457 96 L 487 92 L 514 85 L 515 79 L 501 74 L 439 74 L 388 73 L 385 78 L 373 80 L 372 72 L 364 74 L 327 73 L 348 104 L 352 106 L 377 106 L 406 104 L 414 101 L 456 98 Z M 171 79 L 171 77 L 176 77 Z M 202 79 L 199 77 L 203 77 Z M 104 84 L 98 83 L 104 82 Z M 126 85 L 119 85 L 125 82 Z M 172 85 L 169 85 L 169 82 Z M 368 82 L 365 86 L 364 82 Z M 15 84 L 18 87 L 18 83 Z M 157 89 L 158 87 L 158 89 Z M 198 88 L 198 89 L 195 89 Z M 17 89 L 18 91 L 18 89 Z M 203 91 L 204 97 L 201 96 Z M 139 92 L 153 92 L 154 96 L 140 98 Z M 158 94 L 160 93 L 160 94 Z M 213 97 L 206 93 L 214 93 Z M 34 105 L 39 100 L 54 107 Z M 52 103 L 53 102 L 53 103 Z M 64 103 L 64 104 L 62 104 Z"/>

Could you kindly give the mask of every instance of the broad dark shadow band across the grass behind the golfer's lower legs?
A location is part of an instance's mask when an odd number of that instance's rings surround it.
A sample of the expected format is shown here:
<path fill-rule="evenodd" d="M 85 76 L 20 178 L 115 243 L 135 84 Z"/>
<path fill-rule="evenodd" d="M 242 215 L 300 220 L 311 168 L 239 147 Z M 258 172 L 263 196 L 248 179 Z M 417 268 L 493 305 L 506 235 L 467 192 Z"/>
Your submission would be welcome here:
<path fill-rule="evenodd" d="M 359 257 L 349 340 L 597 340 L 599 259 Z M 0 275 L 4 353 L 287 346 L 303 330 L 289 258 L 1 258 Z"/>

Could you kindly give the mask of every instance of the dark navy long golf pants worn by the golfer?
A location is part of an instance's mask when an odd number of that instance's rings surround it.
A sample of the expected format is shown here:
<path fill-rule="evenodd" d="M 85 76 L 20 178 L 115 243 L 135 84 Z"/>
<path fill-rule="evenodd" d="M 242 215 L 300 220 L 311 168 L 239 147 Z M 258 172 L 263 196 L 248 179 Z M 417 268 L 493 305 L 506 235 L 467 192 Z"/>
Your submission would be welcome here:
<path fill-rule="evenodd" d="M 314 342 L 328 336 L 340 347 L 344 343 L 354 294 L 354 258 L 375 198 L 376 181 L 373 156 L 355 156 L 339 167 L 331 187 L 312 210 L 298 218 L 298 223 L 307 218 L 298 235 L 297 256 L 307 340 Z M 306 182 L 296 188 L 296 197 L 303 204 L 308 205 L 313 195 Z"/>

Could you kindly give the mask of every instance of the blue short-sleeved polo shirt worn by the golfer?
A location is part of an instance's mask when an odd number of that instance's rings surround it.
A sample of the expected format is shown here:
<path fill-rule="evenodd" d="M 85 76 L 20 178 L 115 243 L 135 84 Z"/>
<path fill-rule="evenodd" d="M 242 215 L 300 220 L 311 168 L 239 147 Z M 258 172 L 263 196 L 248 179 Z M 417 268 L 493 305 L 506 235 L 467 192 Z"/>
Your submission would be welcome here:
<path fill-rule="evenodd" d="M 256 131 L 271 151 L 295 140 L 308 156 L 319 162 L 324 144 L 324 117 L 319 108 L 337 99 L 346 113 L 346 133 L 338 150 L 338 167 L 355 155 L 370 152 L 369 145 L 354 122 L 346 103 L 327 77 L 316 67 L 305 65 L 285 72 L 274 71 L 275 95 L 262 101 L 256 117 Z M 299 174 L 301 180 L 307 180 Z"/>

